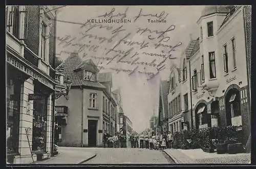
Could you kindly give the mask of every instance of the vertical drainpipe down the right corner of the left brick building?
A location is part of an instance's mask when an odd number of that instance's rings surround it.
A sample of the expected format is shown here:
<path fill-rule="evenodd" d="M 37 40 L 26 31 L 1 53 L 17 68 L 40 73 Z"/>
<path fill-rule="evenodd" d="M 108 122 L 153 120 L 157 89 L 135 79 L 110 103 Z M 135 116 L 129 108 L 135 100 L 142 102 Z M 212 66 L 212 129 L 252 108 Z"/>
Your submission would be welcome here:
<path fill-rule="evenodd" d="M 56 35 L 56 30 L 57 30 L 57 11 L 55 11 L 55 20 L 54 20 L 54 35 Z M 53 66 L 54 66 L 54 77 L 55 77 L 55 58 L 56 58 L 56 37 L 54 36 L 54 47 L 53 47 L 53 55 L 54 55 L 54 59 L 53 59 Z M 55 85 L 54 85 L 54 89 L 55 89 Z M 52 147 L 51 147 L 51 156 L 53 157 L 53 150 L 54 150 L 54 121 L 55 121 L 55 114 L 54 114 L 54 111 L 55 111 L 55 91 L 53 92 L 53 97 L 52 97 L 52 100 L 53 100 L 53 110 L 52 110 Z"/>

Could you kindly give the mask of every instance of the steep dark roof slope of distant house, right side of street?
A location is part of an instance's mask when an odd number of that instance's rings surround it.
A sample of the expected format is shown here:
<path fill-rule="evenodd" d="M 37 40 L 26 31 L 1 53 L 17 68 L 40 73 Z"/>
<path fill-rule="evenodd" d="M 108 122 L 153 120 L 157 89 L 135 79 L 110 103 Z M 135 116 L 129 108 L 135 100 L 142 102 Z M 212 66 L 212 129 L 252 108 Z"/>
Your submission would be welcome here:
<path fill-rule="evenodd" d="M 168 118 L 168 92 L 169 92 L 170 82 L 167 80 L 161 81 L 160 83 L 160 94 L 163 103 L 163 110 L 164 110 L 164 118 Z"/>

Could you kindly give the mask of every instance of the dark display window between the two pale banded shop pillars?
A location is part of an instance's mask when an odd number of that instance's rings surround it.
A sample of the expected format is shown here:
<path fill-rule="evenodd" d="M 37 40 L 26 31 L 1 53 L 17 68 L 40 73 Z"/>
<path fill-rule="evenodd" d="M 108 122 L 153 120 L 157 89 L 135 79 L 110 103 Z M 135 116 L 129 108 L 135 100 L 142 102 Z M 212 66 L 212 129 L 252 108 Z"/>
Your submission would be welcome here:
<path fill-rule="evenodd" d="M 38 94 L 36 88 L 34 94 Z M 33 137 L 32 151 L 46 151 L 46 133 L 47 133 L 47 96 L 41 100 L 34 100 L 33 104 Z"/>

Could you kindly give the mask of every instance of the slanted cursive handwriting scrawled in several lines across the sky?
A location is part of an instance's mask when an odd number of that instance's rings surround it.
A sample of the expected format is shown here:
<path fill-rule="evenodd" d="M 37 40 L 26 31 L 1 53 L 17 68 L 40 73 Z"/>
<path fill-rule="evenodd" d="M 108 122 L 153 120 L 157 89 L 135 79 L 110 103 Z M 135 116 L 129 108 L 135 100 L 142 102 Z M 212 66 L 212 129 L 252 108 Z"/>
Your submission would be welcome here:
<path fill-rule="evenodd" d="M 168 12 L 149 13 L 131 8 L 111 8 L 97 16 L 84 17 L 84 22 L 77 24 L 76 36 L 57 36 L 60 55 L 77 51 L 83 59 L 99 63 L 99 69 L 128 75 L 137 72 L 148 80 L 154 78 L 169 67 L 168 61 L 177 59 L 175 51 L 183 43 L 172 39 L 176 26 L 172 20 L 166 20 Z M 163 20 L 166 22 L 159 22 Z"/>

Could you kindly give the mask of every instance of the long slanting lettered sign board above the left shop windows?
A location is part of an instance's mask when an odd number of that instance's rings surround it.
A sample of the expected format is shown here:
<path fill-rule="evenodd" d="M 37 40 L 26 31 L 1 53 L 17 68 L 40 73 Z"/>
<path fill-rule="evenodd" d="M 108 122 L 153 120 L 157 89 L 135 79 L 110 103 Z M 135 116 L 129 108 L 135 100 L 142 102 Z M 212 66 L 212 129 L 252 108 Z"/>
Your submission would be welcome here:
<path fill-rule="evenodd" d="M 14 67 L 18 68 L 20 71 L 23 71 L 23 73 L 33 77 L 34 79 L 37 79 L 39 82 L 41 82 L 42 84 L 53 88 L 53 85 L 49 82 L 49 80 L 47 80 L 46 78 L 44 78 L 43 76 L 39 75 L 38 73 L 35 73 L 34 70 L 32 70 L 31 68 L 29 68 L 28 66 L 26 66 L 23 63 L 20 63 L 17 59 L 15 59 L 14 57 L 8 55 L 7 56 L 7 62 L 10 63 L 11 65 L 13 65 Z"/>

